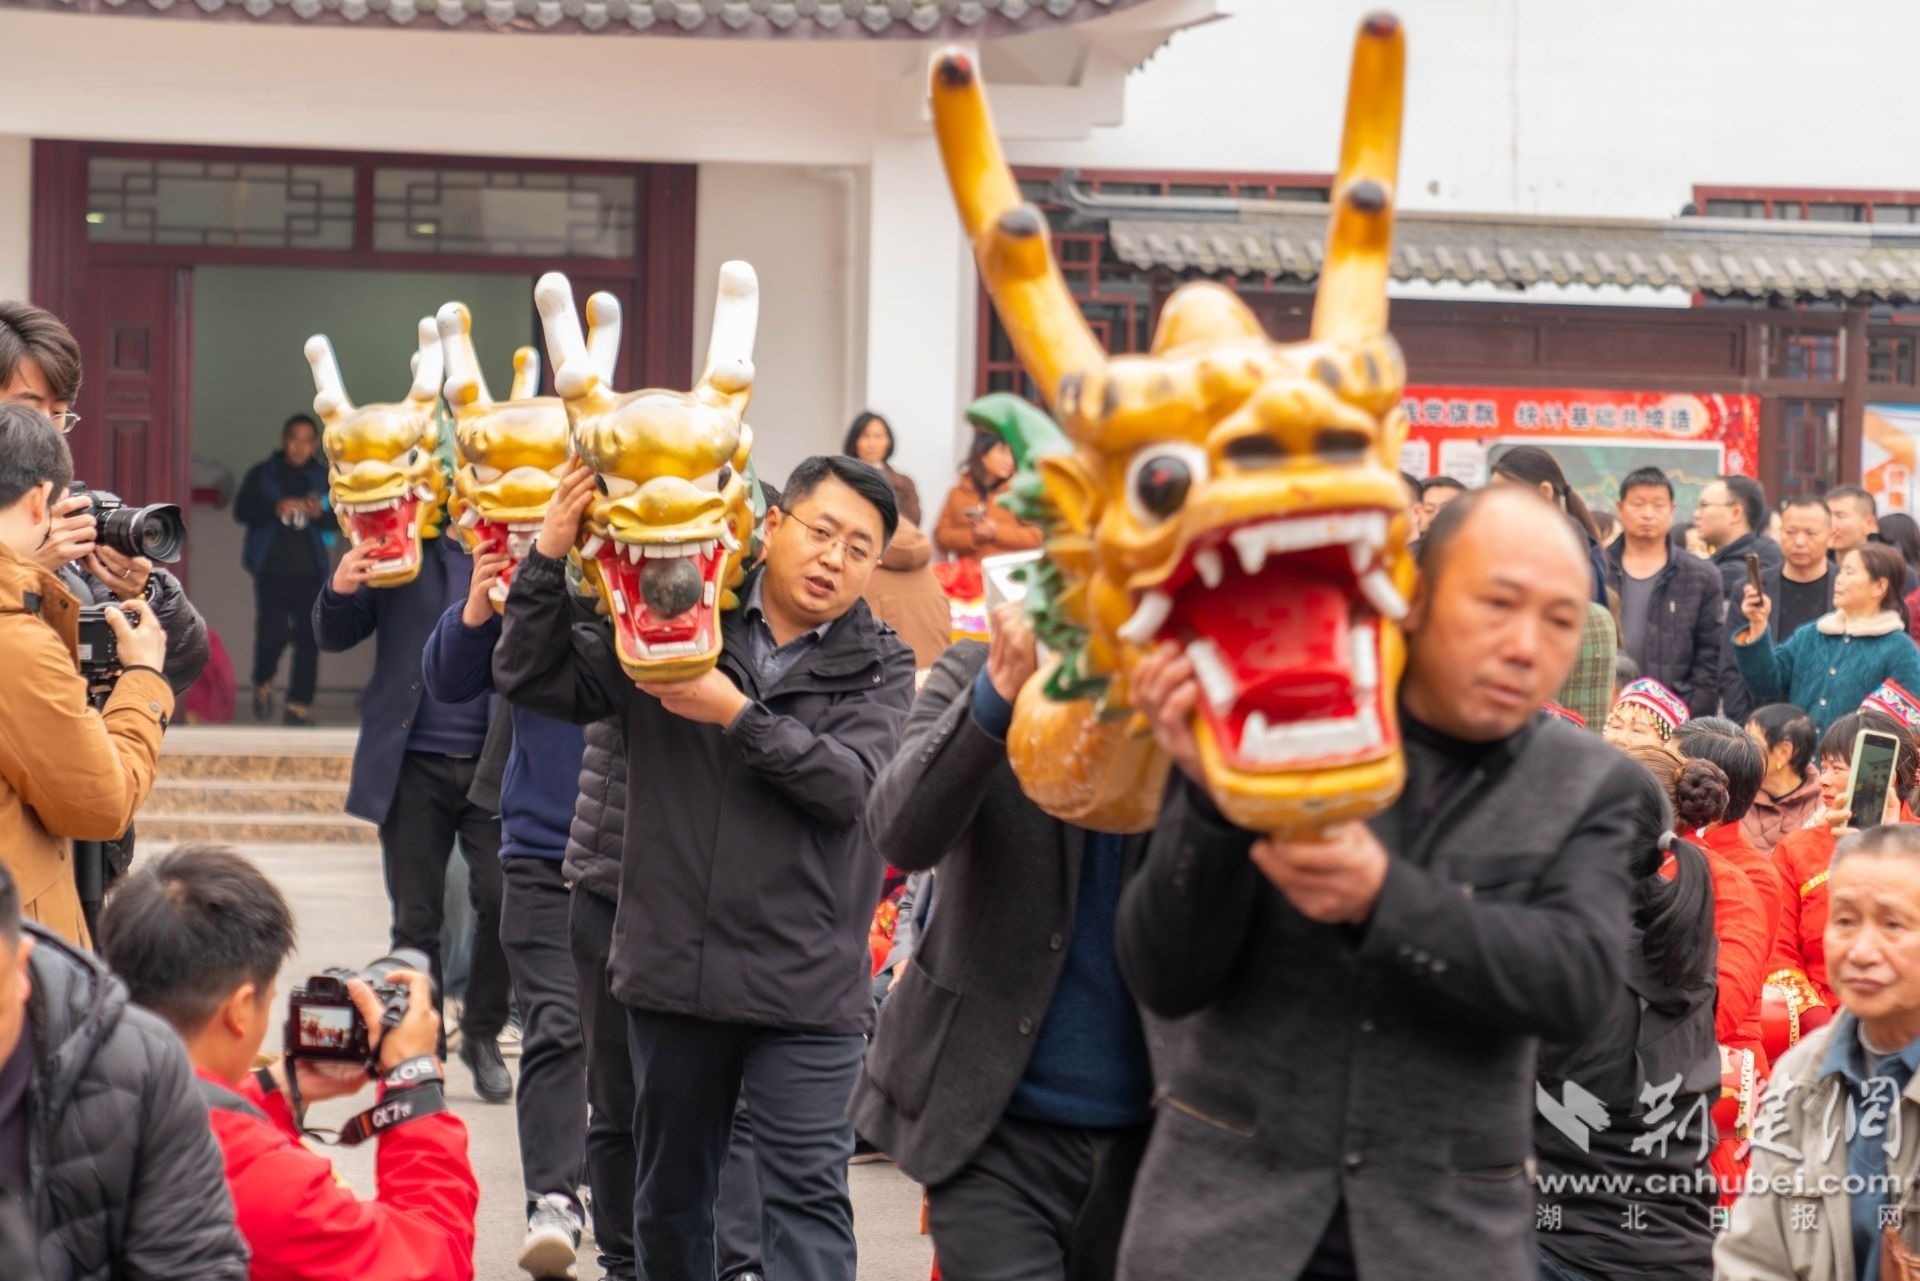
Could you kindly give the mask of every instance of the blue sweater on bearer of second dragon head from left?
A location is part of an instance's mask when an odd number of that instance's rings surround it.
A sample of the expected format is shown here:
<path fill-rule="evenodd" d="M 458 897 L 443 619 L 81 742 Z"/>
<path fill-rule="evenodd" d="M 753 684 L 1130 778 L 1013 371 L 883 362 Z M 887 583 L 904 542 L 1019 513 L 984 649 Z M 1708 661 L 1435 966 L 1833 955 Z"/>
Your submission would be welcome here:
<path fill-rule="evenodd" d="M 426 691 L 445 703 L 488 703 L 493 691 L 493 643 L 499 616 L 490 615 L 478 628 L 461 620 L 465 603 L 451 605 L 426 638 L 420 674 Z M 563 858 L 566 830 L 580 799 L 580 726 L 509 709 L 513 751 L 499 782 L 499 857 Z"/>

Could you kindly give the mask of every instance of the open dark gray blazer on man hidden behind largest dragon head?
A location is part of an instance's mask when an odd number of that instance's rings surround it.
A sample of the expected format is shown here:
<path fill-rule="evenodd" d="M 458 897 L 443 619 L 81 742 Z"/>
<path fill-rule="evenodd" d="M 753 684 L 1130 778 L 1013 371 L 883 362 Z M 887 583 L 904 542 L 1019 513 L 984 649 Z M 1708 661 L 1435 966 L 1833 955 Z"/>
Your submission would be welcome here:
<path fill-rule="evenodd" d="M 939 905 L 895 978 L 852 1097 L 854 1129 L 920 1183 L 956 1173 L 1020 1085 L 1066 968 L 1085 835 L 1020 789 L 973 720 L 987 645 L 933 665 L 866 824 L 897 868 L 939 864 Z M 1129 841 L 1131 858 L 1146 837 Z M 1148 1039 L 1152 1039 L 1148 1029 Z"/>

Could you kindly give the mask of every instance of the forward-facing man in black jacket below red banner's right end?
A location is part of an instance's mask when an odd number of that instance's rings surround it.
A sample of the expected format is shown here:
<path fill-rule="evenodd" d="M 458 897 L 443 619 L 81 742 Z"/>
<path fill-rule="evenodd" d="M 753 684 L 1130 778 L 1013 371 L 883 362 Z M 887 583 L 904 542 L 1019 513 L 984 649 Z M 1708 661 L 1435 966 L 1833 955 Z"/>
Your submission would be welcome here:
<path fill-rule="evenodd" d="M 1668 538 L 1674 486 L 1657 467 L 1620 482 L 1620 540 L 1607 547 L 1609 586 L 1620 593 L 1620 649 L 1695 716 L 1720 705 L 1726 601 L 1713 565 Z"/>

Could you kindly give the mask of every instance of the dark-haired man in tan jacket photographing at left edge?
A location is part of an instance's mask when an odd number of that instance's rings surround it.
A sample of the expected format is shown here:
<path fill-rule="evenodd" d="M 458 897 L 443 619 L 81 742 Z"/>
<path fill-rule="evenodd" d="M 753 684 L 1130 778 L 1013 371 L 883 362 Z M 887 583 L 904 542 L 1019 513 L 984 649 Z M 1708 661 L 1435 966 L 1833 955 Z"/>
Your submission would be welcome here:
<path fill-rule="evenodd" d="M 36 409 L 0 403 L 0 862 L 21 912 L 86 945 L 69 839 L 111 841 L 154 786 L 173 689 L 167 636 L 146 601 L 106 611 L 121 676 L 104 711 L 77 666 L 81 605 L 33 561 L 73 482 L 73 457 Z"/>

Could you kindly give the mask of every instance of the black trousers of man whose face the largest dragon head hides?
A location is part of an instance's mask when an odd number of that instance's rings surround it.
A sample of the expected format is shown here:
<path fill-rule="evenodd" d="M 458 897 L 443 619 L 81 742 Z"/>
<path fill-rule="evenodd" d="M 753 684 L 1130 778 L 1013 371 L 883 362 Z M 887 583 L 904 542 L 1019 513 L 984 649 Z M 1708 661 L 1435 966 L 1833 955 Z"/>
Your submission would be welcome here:
<path fill-rule="evenodd" d="M 927 1189 L 948 1281 L 1110 1281 L 1148 1125 L 1002 1116 L 960 1173 Z"/>

